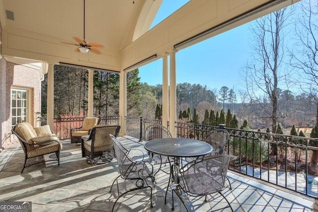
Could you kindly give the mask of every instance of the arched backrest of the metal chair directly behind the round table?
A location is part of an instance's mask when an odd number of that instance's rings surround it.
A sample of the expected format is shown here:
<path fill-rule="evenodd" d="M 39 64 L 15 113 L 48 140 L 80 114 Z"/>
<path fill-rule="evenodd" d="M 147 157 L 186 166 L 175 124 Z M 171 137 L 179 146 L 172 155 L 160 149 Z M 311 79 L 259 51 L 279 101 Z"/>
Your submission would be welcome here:
<path fill-rule="evenodd" d="M 161 124 L 152 124 L 145 130 L 146 141 L 154 140 L 157 138 L 171 138 L 171 132 Z"/>

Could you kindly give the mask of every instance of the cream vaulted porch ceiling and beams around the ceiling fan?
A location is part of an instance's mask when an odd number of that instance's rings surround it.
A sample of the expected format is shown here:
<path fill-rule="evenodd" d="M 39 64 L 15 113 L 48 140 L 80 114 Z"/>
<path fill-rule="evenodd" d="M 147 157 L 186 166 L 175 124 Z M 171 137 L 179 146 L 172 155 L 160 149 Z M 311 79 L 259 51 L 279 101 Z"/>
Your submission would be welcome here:
<path fill-rule="evenodd" d="M 17 64 L 64 63 L 128 72 L 297 0 L 190 0 L 148 30 L 161 1 L 86 0 L 85 39 L 104 46 L 96 55 L 64 44 L 83 38 L 82 1 L 0 0 L 1 54 Z"/>

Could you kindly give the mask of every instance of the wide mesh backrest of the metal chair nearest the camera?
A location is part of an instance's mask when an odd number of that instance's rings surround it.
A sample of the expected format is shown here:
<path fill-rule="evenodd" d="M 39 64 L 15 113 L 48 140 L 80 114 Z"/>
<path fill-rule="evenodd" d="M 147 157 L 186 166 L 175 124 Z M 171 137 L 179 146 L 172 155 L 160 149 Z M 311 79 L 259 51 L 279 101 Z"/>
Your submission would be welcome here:
<path fill-rule="evenodd" d="M 216 155 L 194 160 L 181 168 L 178 185 L 198 196 L 213 194 L 224 189 L 230 160 L 233 155 Z"/>

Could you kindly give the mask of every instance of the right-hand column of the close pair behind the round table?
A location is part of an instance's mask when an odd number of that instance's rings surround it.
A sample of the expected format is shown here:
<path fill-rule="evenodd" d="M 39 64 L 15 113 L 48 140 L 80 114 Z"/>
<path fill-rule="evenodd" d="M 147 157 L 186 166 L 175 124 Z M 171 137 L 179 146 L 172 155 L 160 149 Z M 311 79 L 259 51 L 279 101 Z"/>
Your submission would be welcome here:
<path fill-rule="evenodd" d="M 170 54 L 170 79 L 169 79 L 169 131 L 172 137 L 176 137 L 176 73 L 175 52 Z"/>

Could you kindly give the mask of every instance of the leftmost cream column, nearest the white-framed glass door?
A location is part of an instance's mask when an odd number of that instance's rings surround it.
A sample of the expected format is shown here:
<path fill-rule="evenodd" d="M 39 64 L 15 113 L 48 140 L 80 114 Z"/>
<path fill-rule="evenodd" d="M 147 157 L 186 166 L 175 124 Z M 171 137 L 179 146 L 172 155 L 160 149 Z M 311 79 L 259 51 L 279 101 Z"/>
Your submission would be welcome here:
<path fill-rule="evenodd" d="M 53 120 L 54 120 L 54 66 L 49 64 L 48 66 L 48 86 L 47 86 L 47 103 L 46 103 L 46 123 L 50 125 L 53 132 Z"/>

